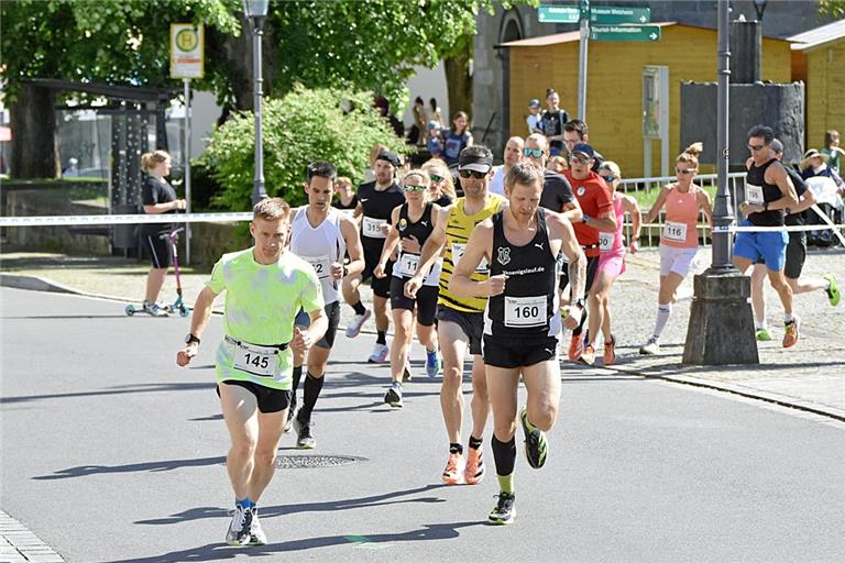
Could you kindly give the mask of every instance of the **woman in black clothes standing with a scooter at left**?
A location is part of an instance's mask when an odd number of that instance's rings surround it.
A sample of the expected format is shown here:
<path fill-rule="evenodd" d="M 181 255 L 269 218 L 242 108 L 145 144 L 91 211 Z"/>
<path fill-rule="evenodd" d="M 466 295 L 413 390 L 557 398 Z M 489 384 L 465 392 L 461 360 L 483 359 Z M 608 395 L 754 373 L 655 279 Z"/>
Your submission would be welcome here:
<path fill-rule="evenodd" d="M 176 190 L 167 184 L 165 176 L 171 175 L 171 155 L 164 151 L 155 151 L 141 155 L 141 169 L 146 173 L 141 187 L 144 213 L 175 213 L 185 209 L 184 199 L 176 198 Z M 144 294 L 143 311 L 153 317 L 167 317 L 167 312 L 158 307 L 158 294 L 167 276 L 167 268 L 173 264 L 171 242 L 162 239 L 162 234 L 173 231 L 173 223 L 144 223 L 141 225 L 141 239 L 150 253 L 152 268 L 146 275 L 146 292 Z"/>

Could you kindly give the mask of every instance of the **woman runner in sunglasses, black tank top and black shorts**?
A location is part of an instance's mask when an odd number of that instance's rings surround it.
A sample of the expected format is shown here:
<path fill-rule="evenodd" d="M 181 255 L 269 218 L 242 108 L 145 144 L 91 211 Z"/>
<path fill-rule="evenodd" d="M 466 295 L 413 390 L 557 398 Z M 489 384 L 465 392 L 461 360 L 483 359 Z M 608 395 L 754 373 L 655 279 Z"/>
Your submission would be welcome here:
<path fill-rule="evenodd" d="M 438 261 L 417 291 L 416 299 L 405 297 L 405 283 L 417 271 L 419 253 L 426 240 L 435 230 L 440 214 L 440 206 L 428 201 L 428 187 L 431 183 L 428 173 L 410 170 L 403 179 L 405 203 L 391 213 L 391 232 L 384 242 L 384 250 L 378 264 L 373 271 L 376 277 L 385 277 L 385 265 L 397 243 L 400 244 L 399 260 L 393 266 L 391 280 L 391 309 L 396 333 L 391 344 L 391 378 L 393 383 L 384 401 L 392 407 L 402 407 L 402 376 L 407 363 L 407 354 L 414 338 L 414 309 L 417 310 L 417 338 L 426 346 L 426 373 L 434 377 L 440 372 L 440 355 L 437 349 L 437 310 L 440 262 Z"/>

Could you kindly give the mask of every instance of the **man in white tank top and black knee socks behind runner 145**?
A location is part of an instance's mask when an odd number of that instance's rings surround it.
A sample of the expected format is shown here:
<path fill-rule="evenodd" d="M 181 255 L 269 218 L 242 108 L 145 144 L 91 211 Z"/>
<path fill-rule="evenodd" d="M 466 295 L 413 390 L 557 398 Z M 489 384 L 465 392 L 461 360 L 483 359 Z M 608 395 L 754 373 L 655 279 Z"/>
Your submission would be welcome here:
<path fill-rule="evenodd" d="M 290 222 L 290 251 L 310 263 L 317 272 L 329 329 L 322 340 L 307 353 L 308 372 L 303 385 L 303 406 L 296 417 L 296 390 L 303 376 L 306 355 L 294 353 L 294 383 L 285 432 L 290 430 L 293 423 L 298 434 L 297 446 L 310 450 L 317 445 L 311 434 L 311 412 L 322 389 L 326 364 L 340 322 L 340 280 L 364 269 L 364 251 L 358 223 L 352 217 L 331 207 L 337 178 L 334 165 L 318 161 L 308 165 L 305 192 L 308 194 L 308 205 L 297 209 Z M 350 262 L 344 266 L 343 256 L 347 252 Z M 308 316 L 300 312 L 294 322 L 307 327 Z"/>

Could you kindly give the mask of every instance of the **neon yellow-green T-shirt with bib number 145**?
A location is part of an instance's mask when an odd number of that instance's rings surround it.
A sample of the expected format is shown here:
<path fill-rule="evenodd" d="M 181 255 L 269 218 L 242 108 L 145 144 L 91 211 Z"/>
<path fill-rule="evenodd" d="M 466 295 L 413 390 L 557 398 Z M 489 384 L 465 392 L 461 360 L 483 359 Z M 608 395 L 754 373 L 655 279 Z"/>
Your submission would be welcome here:
<path fill-rule="evenodd" d="M 259 264 L 253 249 L 224 254 L 215 264 L 212 291 L 226 290 L 226 339 L 217 349 L 217 379 L 289 389 L 294 318 L 299 309 L 323 308 L 314 266 L 292 252 L 275 264 Z"/>

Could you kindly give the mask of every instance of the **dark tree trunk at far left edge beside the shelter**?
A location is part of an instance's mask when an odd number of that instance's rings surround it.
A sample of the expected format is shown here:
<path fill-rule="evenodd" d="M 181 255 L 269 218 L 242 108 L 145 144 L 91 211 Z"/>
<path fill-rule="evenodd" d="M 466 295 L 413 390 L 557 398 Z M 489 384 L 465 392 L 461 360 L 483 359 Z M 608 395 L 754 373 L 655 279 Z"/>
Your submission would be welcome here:
<path fill-rule="evenodd" d="M 61 174 L 56 139 L 56 96 L 53 90 L 23 82 L 11 104 L 14 178 L 56 178 Z"/>

